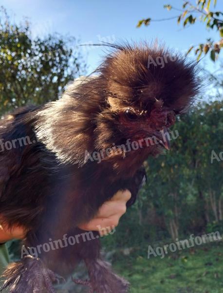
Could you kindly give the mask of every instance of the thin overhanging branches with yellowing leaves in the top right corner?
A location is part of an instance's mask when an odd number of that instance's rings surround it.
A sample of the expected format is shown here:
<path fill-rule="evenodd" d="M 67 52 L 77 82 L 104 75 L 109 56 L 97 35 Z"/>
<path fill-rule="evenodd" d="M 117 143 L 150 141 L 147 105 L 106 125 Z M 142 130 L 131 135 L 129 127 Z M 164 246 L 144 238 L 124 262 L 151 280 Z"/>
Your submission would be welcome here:
<path fill-rule="evenodd" d="M 211 60 L 215 62 L 223 48 L 223 12 L 211 10 L 210 7 L 212 3 L 214 9 L 217 0 L 197 0 L 196 5 L 192 4 L 190 1 L 183 0 L 182 9 L 166 4 L 164 5 L 164 8 L 168 11 L 180 11 L 180 15 L 163 20 L 153 20 L 151 18 L 143 19 L 138 22 L 137 27 L 140 27 L 142 24 L 148 26 L 151 21 L 167 21 L 171 19 L 177 19 L 177 23 L 183 23 L 184 27 L 187 25 L 193 25 L 196 21 L 202 21 L 206 24 L 206 28 L 216 29 L 219 32 L 220 38 L 217 41 L 207 39 L 204 43 L 196 46 L 193 45 L 188 49 L 187 54 L 194 49 L 195 54 L 197 55 L 197 60 L 199 61 L 202 55 L 206 55 L 209 52 Z"/>

